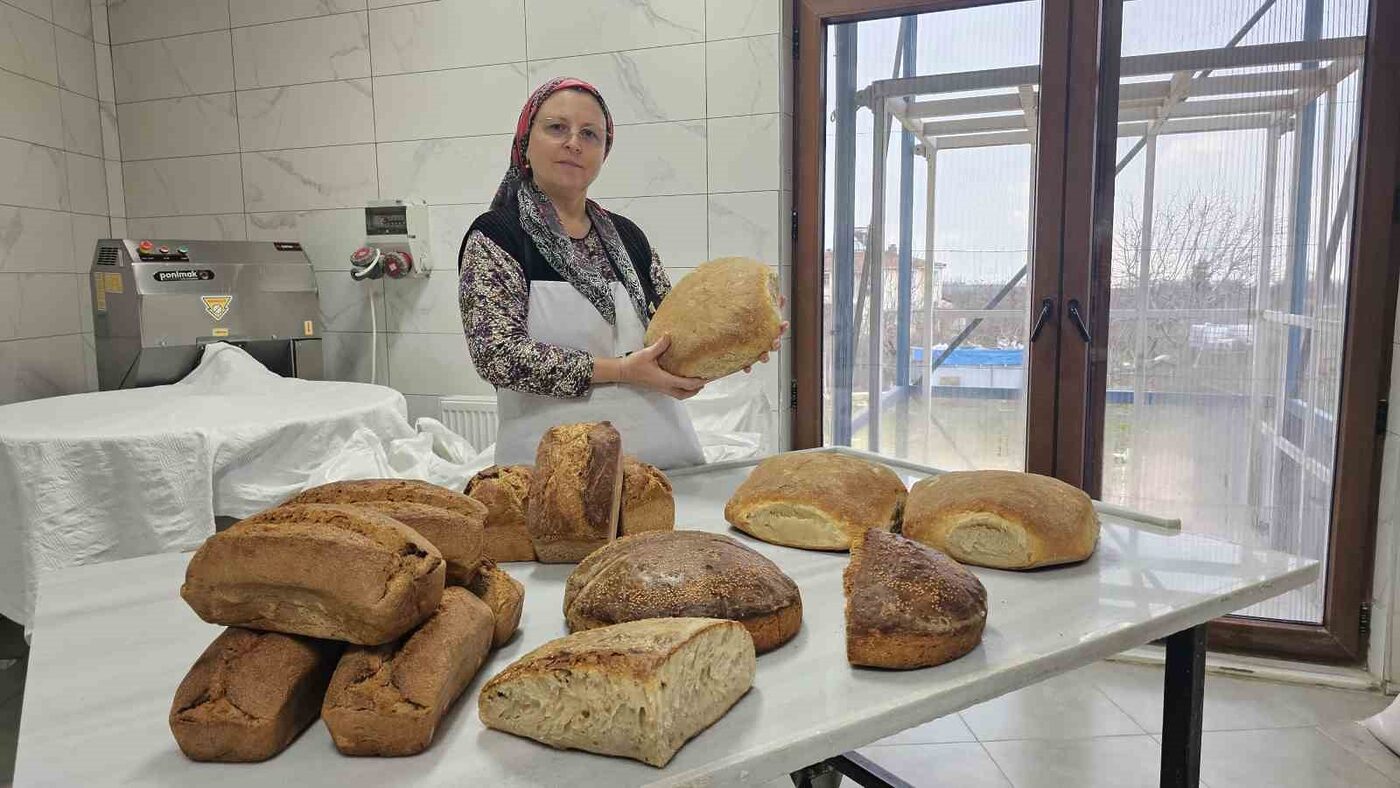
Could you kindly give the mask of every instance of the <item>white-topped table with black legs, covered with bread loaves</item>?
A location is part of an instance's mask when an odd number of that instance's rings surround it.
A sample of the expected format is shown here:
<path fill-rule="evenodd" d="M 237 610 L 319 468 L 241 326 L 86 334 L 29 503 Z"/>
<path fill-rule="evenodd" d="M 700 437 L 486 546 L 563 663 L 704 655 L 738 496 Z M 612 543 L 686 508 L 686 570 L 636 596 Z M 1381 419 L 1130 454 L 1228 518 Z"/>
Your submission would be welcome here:
<path fill-rule="evenodd" d="M 895 467 L 906 480 L 924 476 Z M 843 753 L 855 747 L 1173 633 L 1183 634 L 1169 645 L 1168 683 L 1179 686 L 1168 696 L 1168 717 L 1179 718 L 1163 731 L 1163 760 L 1176 753 L 1180 764 L 1169 763 L 1163 782 L 1190 784 L 1200 743 L 1200 624 L 1317 575 L 1305 558 L 1105 518 L 1098 553 L 1084 564 L 976 570 L 990 612 L 983 644 L 967 656 L 924 670 L 853 669 L 840 585 L 846 556 L 728 530 L 722 505 L 748 472 L 749 463 L 738 463 L 673 474 L 678 523 L 731 533 L 777 561 L 801 588 L 802 630 L 759 658 L 753 690 L 664 770 L 552 750 L 482 726 L 476 693 L 486 677 L 566 633 L 563 584 L 573 567 L 545 564 L 507 564 L 526 588 L 522 631 L 490 658 L 426 753 L 343 757 L 318 722 L 263 764 L 188 761 L 167 714 L 181 677 L 220 630 L 179 599 L 188 556 L 171 554 L 45 578 L 15 785 L 752 785 L 812 764 L 850 768 L 857 764 Z"/>

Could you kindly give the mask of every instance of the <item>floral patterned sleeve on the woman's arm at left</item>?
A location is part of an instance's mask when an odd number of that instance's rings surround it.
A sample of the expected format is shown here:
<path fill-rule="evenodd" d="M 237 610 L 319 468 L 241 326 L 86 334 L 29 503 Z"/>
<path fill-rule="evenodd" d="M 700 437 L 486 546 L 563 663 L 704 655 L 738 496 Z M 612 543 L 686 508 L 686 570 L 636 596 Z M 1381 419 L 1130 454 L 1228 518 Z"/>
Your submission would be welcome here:
<path fill-rule="evenodd" d="M 535 342 L 526 329 L 529 284 L 521 265 L 480 231 L 466 239 L 458 283 L 462 330 L 477 374 L 498 389 L 578 397 L 588 393 L 588 353 Z"/>

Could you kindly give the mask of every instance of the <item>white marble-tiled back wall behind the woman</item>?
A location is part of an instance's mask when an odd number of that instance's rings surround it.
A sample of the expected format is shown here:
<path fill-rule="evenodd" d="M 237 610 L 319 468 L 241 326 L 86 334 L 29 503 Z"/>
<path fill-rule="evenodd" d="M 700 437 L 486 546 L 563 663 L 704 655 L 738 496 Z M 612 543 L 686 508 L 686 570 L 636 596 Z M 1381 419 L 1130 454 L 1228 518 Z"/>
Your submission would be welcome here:
<path fill-rule="evenodd" d="M 371 287 L 375 377 L 413 416 L 433 414 L 438 395 L 490 392 L 462 339 L 454 258 L 505 168 L 521 104 L 549 77 L 608 97 L 617 141 L 592 195 L 647 231 L 673 277 L 721 255 L 787 277 L 784 1 L 113 0 L 113 95 L 101 74 L 97 85 L 115 101 L 98 132 L 122 146 L 125 206 L 112 210 L 133 234 L 301 239 L 328 371 L 368 379 L 370 298 L 347 276 L 357 209 L 427 200 L 438 272 Z M 27 67 L 52 67 L 57 85 L 60 60 L 36 50 Z M 774 423 L 785 356 L 762 375 Z"/>

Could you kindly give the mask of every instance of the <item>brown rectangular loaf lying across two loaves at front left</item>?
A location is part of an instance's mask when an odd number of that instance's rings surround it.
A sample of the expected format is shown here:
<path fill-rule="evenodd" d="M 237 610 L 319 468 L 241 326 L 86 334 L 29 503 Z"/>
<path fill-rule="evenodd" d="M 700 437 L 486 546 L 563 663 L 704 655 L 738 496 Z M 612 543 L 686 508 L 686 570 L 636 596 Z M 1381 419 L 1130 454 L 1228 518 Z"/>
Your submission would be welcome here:
<path fill-rule="evenodd" d="M 181 596 L 211 624 L 375 645 L 433 614 L 445 568 L 437 547 L 388 515 L 284 505 L 210 536 Z"/>

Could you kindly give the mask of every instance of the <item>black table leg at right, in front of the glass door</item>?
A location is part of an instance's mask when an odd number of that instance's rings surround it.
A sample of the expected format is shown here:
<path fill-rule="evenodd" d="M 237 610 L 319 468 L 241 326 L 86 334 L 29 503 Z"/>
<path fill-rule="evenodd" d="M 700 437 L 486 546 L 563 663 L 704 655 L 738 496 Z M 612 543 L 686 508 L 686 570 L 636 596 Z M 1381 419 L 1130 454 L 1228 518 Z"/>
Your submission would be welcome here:
<path fill-rule="evenodd" d="M 1162 788 L 1201 781 L 1201 701 L 1205 697 L 1205 624 L 1166 638 L 1162 683 Z"/>

